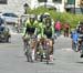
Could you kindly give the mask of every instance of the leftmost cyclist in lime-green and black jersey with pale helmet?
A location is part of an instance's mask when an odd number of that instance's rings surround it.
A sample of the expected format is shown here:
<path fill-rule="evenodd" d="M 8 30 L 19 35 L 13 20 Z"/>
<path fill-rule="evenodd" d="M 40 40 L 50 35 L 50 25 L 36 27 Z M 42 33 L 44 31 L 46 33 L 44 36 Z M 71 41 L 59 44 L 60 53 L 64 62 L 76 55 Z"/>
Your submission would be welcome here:
<path fill-rule="evenodd" d="M 34 14 L 31 14 L 30 19 L 28 19 L 25 21 L 25 25 L 24 25 L 25 28 L 24 28 L 24 31 L 23 31 L 24 50 L 25 50 L 28 36 L 29 35 L 37 35 L 37 24 L 38 24 L 38 21 L 35 20 Z"/>

